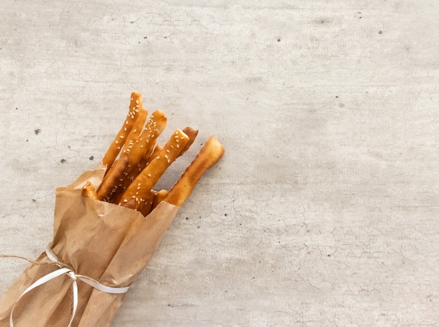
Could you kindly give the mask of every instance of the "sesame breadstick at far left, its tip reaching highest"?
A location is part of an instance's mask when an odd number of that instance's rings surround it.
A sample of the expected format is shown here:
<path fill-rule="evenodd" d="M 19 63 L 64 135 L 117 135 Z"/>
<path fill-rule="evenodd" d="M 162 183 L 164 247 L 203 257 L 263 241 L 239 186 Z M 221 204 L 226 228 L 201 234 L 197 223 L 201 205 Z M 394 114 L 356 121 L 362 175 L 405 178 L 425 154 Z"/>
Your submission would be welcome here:
<path fill-rule="evenodd" d="M 140 93 L 131 93 L 130 109 L 128 115 L 126 116 L 126 121 L 123 123 L 121 130 L 117 133 L 116 138 L 114 138 L 112 144 L 102 159 L 102 163 L 109 168 L 116 160 L 121 148 L 125 144 L 126 138 L 133 129 L 135 119 L 137 118 L 140 107 L 142 107 L 142 95 Z"/>

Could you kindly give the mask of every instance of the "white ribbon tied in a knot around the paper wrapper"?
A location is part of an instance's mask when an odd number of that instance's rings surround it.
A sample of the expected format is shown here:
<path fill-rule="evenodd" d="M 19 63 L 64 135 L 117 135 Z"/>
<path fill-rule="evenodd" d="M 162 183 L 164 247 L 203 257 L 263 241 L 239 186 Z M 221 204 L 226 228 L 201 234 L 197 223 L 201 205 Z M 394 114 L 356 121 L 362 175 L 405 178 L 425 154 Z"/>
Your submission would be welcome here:
<path fill-rule="evenodd" d="M 121 294 L 121 293 L 126 293 L 126 291 L 128 291 L 128 288 L 130 288 L 130 286 L 126 286 L 126 287 L 105 286 L 105 285 L 99 283 L 98 281 L 95 281 L 95 279 L 92 279 L 88 276 L 76 274 L 72 269 L 62 267 L 62 264 L 58 261 L 58 258 L 50 250 L 50 248 L 48 248 L 46 250 L 46 255 L 47 255 L 47 258 L 49 258 L 50 261 L 52 261 L 53 263 L 58 265 L 58 267 L 60 267 L 60 269 L 57 269 L 54 272 L 50 272 L 50 274 L 47 274 L 46 276 L 41 277 L 40 279 L 38 279 L 37 281 L 32 283 L 31 286 L 26 288 L 25 291 L 23 291 L 23 293 L 20 295 L 20 297 L 17 299 L 17 301 L 15 301 L 15 304 L 12 307 L 11 316 L 9 316 L 9 324 L 11 327 L 14 326 L 12 317 L 13 317 L 13 312 L 14 312 L 15 306 L 18 304 L 18 301 L 20 301 L 20 299 L 26 293 L 29 293 L 34 288 L 41 286 L 41 285 L 43 285 L 43 283 L 47 283 L 48 281 L 51 281 L 52 279 L 55 279 L 56 277 L 62 276 L 63 274 L 67 274 L 67 276 L 69 276 L 73 281 L 73 283 L 72 283 L 72 288 L 73 288 L 72 305 L 73 305 L 73 308 L 72 308 L 72 316 L 70 317 L 68 327 L 72 326 L 72 322 L 73 322 L 74 316 L 76 314 L 76 309 L 78 308 L 78 283 L 76 283 L 76 281 L 78 279 L 80 279 L 84 283 L 87 283 L 88 285 L 92 286 L 93 288 L 96 288 L 97 290 L 99 290 L 101 292 L 105 292 L 105 293 Z"/>

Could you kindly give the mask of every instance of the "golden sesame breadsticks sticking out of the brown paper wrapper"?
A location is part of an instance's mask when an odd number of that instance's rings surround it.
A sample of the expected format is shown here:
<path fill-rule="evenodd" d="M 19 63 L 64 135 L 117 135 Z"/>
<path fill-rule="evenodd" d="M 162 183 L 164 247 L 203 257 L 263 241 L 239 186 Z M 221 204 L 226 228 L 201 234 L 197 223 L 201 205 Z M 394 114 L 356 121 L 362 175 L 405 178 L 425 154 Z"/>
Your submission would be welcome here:
<path fill-rule="evenodd" d="M 147 119 L 142 95 L 133 93 L 125 123 L 127 127 L 121 128 L 125 134 L 120 131 L 116 135 L 104 156 L 104 159 L 111 158 L 113 161 L 111 164 L 108 161 L 107 173 L 97 189 L 98 200 L 133 208 L 143 215 L 148 215 L 161 201 L 182 206 L 198 180 L 222 157 L 224 147 L 215 136 L 210 137 L 172 189 L 155 191 L 154 186 L 163 173 L 175 159 L 187 152 L 198 135 L 198 130 L 190 126 L 177 129 L 161 147 L 156 140 L 166 124 L 166 114 L 160 109 Z M 115 145 L 118 145 L 116 149 Z M 117 156 L 119 159 L 116 159 Z M 93 193 L 90 194 L 84 193 L 85 196 L 93 196 Z"/>

